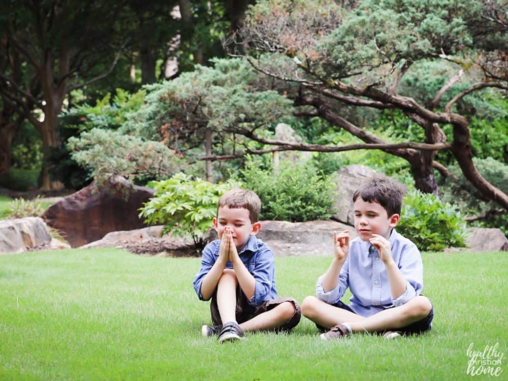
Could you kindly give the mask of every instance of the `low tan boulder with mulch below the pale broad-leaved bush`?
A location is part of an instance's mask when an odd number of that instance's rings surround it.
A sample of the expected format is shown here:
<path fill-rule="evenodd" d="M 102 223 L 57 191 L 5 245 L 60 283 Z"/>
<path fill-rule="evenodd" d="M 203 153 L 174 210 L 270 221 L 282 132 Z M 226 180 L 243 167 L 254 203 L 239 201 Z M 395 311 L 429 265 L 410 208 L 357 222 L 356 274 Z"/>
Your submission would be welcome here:
<path fill-rule="evenodd" d="M 162 229 L 163 226 L 160 225 L 130 231 L 111 232 L 101 240 L 88 243 L 80 248 L 116 247 L 137 254 L 146 253 L 171 257 L 201 255 L 201 252 L 194 246 L 194 242 L 172 237 L 169 234 L 161 236 Z"/>

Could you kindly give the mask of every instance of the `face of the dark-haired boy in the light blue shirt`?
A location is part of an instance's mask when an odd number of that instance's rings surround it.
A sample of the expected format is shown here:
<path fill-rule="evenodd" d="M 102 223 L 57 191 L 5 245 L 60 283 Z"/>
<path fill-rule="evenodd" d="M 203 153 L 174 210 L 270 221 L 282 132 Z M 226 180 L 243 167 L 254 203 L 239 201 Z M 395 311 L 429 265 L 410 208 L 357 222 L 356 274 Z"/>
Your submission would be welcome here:
<path fill-rule="evenodd" d="M 362 241 L 368 241 L 372 234 L 386 239 L 399 222 L 400 215 L 388 215 L 386 209 L 377 202 L 366 202 L 361 197 L 355 201 L 355 229 Z"/>

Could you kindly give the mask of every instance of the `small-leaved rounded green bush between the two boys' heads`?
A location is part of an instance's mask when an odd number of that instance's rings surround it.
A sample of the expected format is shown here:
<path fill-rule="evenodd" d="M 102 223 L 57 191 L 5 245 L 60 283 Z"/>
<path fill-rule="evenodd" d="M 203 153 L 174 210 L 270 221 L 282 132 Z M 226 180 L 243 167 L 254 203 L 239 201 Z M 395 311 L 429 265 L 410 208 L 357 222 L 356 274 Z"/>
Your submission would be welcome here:
<path fill-rule="evenodd" d="M 246 187 L 262 201 L 263 219 L 310 221 L 328 219 L 336 184 L 312 163 L 281 163 L 277 174 L 273 169 L 261 169 L 258 160 L 250 160 L 240 170 Z"/>

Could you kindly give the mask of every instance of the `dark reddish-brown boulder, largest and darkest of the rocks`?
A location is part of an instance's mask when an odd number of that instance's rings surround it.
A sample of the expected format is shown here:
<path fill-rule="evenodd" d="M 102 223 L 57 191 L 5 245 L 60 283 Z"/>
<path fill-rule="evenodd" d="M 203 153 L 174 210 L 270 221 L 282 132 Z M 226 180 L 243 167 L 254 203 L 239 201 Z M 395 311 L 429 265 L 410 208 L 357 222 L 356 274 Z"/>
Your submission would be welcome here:
<path fill-rule="evenodd" d="M 72 247 L 97 241 L 110 232 L 145 227 L 138 209 L 153 196 L 153 189 L 120 177 L 114 186 L 115 192 L 105 192 L 90 184 L 50 206 L 42 218 Z M 124 197 L 125 190 L 128 197 Z"/>

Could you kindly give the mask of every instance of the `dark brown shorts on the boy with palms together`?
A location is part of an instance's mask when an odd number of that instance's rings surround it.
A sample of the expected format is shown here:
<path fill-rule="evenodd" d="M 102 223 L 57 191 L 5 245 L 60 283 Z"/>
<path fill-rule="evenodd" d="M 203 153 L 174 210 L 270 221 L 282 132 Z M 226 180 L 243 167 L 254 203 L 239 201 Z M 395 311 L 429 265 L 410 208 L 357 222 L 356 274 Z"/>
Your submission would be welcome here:
<path fill-rule="evenodd" d="M 273 300 L 267 300 L 265 302 L 255 305 L 255 306 L 252 306 L 249 304 L 247 297 L 242 292 L 240 287 L 237 287 L 237 289 L 236 289 L 236 321 L 239 324 L 241 324 L 241 323 L 246 322 L 263 312 L 269 311 L 269 310 L 277 307 L 279 304 L 282 304 L 284 302 L 293 303 L 293 306 L 295 307 L 295 313 L 293 314 L 291 319 L 288 322 L 286 322 L 284 325 L 273 329 L 273 331 L 275 331 L 275 332 L 291 331 L 300 322 L 300 318 L 302 316 L 302 311 L 300 309 L 300 305 L 298 304 L 298 302 L 293 298 L 277 298 L 277 299 L 273 299 Z M 212 300 L 210 303 L 210 313 L 212 315 L 212 323 L 214 326 L 222 324 L 222 321 L 220 319 L 219 310 L 217 307 L 217 298 L 216 298 L 215 294 L 212 296 Z"/>

